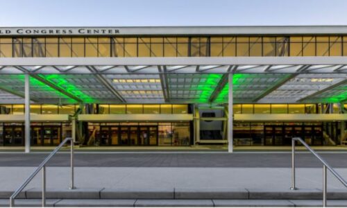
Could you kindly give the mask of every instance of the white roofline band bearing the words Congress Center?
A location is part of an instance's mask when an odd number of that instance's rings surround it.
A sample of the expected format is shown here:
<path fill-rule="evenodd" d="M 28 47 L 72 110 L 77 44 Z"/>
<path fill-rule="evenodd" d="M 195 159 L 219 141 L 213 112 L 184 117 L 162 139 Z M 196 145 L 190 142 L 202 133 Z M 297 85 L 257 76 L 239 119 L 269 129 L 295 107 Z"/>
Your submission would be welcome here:
<path fill-rule="evenodd" d="M 130 27 L 1 27 L 0 36 L 105 35 L 324 35 L 347 34 L 347 26 L 130 26 Z M 49 33 L 49 30 L 53 31 Z M 31 33 L 26 33 L 31 31 Z M 60 32 L 56 32 L 60 31 Z M 71 33 L 62 33 L 71 31 Z M 98 32 L 95 32 L 98 31 Z"/>

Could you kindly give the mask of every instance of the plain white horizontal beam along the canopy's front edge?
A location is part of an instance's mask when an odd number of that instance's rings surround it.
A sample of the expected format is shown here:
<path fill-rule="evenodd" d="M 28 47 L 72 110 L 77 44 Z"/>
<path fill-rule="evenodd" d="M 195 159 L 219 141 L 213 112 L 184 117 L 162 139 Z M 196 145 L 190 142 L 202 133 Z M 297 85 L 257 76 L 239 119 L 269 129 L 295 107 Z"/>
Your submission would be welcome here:
<path fill-rule="evenodd" d="M 343 56 L 307 57 L 136 57 L 0 58 L 0 66 L 148 66 L 148 65 L 325 65 L 347 64 Z"/>

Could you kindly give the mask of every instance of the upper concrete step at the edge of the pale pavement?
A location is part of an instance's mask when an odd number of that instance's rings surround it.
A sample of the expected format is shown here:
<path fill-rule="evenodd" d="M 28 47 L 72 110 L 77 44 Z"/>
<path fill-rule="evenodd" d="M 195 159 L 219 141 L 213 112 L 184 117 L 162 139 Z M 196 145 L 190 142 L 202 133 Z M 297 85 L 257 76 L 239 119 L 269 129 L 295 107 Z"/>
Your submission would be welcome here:
<path fill-rule="evenodd" d="M 12 191 L 0 191 L 8 199 Z M 17 199 L 40 199 L 41 189 L 27 189 Z M 320 189 L 232 189 L 232 188 L 148 188 L 148 189 L 47 189 L 51 199 L 252 199 L 252 200 L 321 200 Z M 328 199 L 347 200 L 347 189 L 328 189 Z"/>

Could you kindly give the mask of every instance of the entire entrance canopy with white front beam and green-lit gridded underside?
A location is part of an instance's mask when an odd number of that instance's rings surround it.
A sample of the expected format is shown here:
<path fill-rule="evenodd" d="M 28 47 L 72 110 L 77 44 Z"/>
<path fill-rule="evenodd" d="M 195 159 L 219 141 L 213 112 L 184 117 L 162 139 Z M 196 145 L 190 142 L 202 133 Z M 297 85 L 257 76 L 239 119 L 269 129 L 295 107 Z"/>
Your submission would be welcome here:
<path fill-rule="evenodd" d="M 283 58 L 1 58 L 0 102 L 23 103 L 24 74 L 35 103 L 340 103 L 347 60 Z"/>

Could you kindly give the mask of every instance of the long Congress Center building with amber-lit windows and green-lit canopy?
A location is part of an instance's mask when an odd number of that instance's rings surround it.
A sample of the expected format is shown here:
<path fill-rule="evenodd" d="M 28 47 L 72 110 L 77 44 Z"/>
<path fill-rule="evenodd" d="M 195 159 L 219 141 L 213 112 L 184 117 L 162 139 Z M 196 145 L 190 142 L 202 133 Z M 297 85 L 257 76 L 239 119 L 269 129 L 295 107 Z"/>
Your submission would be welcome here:
<path fill-rule="evenodd" d="M 346 26 L 0 28 L 0 145 L 344 144 Z"/>

